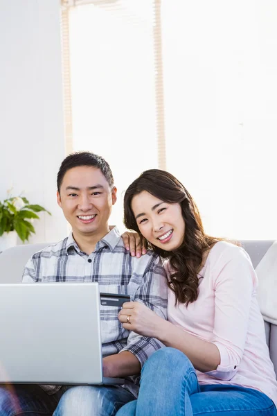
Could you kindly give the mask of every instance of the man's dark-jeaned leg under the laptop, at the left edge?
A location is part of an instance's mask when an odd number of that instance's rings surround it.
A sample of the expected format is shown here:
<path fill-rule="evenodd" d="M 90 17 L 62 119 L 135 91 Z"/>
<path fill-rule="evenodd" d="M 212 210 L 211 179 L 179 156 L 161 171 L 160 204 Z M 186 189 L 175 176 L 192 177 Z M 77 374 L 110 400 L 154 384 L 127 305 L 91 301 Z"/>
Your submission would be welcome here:
<path fill-rule="evenodd" d="M 39 385 L 0 385 L 1 416 L 50 416 L 56 406 L 57 399 Z"/>

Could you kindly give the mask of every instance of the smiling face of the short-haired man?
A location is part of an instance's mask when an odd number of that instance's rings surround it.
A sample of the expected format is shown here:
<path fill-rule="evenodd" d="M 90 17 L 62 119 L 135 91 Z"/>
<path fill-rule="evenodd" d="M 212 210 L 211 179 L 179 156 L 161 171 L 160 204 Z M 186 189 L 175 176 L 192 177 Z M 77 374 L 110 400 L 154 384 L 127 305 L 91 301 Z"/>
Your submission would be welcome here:
<path fill-rule="evenodd" d="M 57 203 L 72 227 L 73 236 L 96 237 L 109 232 L 111 207 L 116 202 L 116 188 L 110 189 L 100 169 L 78 166 L 66 172 L 57 191 Z"/>

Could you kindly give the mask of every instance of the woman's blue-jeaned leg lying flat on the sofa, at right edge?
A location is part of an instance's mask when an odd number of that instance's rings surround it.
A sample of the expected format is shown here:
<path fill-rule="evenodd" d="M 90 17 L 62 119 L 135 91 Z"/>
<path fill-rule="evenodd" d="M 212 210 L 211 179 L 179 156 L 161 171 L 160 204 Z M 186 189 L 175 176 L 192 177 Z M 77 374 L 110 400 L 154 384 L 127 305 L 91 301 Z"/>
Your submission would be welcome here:
<path fill-rule="evenodd" d="M 237 385 L 201 385 L 190 397 L 193 415 L 276 416 L 276 407 L 263 393 Z M 184 413 L 186 415 L 186 413 Z"/>

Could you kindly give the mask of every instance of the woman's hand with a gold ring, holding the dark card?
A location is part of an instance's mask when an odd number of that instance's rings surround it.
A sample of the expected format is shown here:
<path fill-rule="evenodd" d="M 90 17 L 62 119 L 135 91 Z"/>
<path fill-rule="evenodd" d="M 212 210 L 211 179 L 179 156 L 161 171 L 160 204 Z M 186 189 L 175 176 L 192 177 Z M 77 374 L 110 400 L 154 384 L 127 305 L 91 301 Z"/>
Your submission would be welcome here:
<path fill-rule="evenodd" d="M 159 338 L 161 328 L 166 323 L 166 320 L 141 302 L 125 302 L 118 313 L 118 319 L 128 331 L 153 338 Z"/>

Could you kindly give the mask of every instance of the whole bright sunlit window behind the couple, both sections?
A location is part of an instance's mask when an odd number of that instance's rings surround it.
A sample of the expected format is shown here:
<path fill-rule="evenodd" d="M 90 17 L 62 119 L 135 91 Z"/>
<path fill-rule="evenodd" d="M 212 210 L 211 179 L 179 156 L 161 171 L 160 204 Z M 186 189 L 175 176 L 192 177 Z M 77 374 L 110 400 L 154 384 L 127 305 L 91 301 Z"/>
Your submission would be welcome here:
<path fill-rule="evenodd" d="M 165 137 L 163 167 L 206 232 L 277 239 L 277 3 L 81 3 L 69 9 L 72 150 L 104 156 L 121 196 L 162 167 Z"/>

